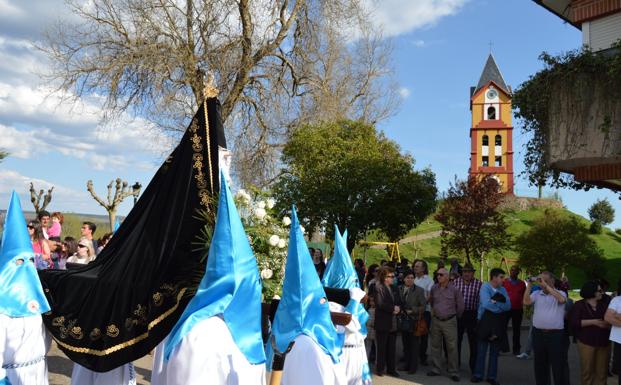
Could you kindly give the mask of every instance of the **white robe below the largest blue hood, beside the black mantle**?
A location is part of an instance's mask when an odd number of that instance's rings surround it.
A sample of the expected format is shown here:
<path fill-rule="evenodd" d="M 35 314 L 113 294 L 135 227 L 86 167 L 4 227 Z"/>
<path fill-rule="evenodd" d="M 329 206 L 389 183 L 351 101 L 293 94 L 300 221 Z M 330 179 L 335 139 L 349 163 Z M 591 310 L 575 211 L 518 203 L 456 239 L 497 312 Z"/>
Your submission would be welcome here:
<path fill-rule="evenodd" d="M 265 385 L 265 364 L 253 365 L 239 350 L 222 318 L 197 323 L 164 362 L 155 350 L 151 385 Z"/>

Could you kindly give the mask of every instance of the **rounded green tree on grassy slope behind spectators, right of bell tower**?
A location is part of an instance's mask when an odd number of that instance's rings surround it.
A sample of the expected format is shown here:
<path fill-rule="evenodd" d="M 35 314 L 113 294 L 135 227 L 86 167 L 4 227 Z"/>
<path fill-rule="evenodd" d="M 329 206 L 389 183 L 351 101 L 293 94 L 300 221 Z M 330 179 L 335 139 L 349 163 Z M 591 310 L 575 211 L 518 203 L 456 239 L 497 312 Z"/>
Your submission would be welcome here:
<path fill-rule="evenodd" d="M 601 274 L 595 271 L 601 269 L 588 268 L 601 267 L 602 251 L 589 238 L 586 226 L 576 217 L 554 210 L 548 209 L 535 219 L 530 230 L 516 238 L 515 249 L 520 255 L 520 265 L 533 273 L 543 270 L 561 273 L 568 266 L 580 266 L 586 267 L 589 278 Z"/>

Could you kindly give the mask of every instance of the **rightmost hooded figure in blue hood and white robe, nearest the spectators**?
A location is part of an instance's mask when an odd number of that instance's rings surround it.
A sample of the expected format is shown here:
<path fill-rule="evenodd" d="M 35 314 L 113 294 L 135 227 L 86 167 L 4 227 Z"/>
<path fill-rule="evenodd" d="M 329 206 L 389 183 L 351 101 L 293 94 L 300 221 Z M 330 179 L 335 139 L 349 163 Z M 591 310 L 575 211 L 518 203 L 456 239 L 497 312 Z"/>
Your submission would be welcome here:
<path fill-rule="evenodd" d="M 351 322 L 345 326 L 341 365 L 345 370 L 348 385 L 369 385 L 372 383 L 371 370 L 364 346 L 369 314 L 364 309 L 364 305 L 360 303 L 365 292 L 360 289 L 358 274 L 347 251 L 347 230 L 341 236 L 338 227 L 334 227 L 334 256 L 328 261 L 321 282 L 325 287 L 349 289 L 351 299 L 347 307 L 330 303 L 332 311 L 352 314 Z"/>

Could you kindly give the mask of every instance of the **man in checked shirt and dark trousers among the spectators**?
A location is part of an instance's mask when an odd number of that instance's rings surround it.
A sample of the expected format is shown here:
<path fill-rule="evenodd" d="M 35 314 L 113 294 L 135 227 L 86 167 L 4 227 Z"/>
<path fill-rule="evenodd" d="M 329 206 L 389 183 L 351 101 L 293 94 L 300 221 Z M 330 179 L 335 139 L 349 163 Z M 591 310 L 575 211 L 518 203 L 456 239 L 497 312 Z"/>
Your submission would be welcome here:
<path fill-rule="evenodd" d="M 468 366 L 470 372 L 474 372 L 474 365 L 477 359 L 477 311 L 479 309 L 479 293 L 481 291 L 481 281 L 474 277 L 472 264 L 466 263 L 462 268 L 462 276 L 453 282 L 455 287 L 461 291 L 464 297 L 464 312 L 457 319 L 457 356 L 461 365 L 461 345 L 464 333 L 468 334 L 468 347 L 470 355 Z"/>

